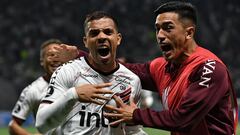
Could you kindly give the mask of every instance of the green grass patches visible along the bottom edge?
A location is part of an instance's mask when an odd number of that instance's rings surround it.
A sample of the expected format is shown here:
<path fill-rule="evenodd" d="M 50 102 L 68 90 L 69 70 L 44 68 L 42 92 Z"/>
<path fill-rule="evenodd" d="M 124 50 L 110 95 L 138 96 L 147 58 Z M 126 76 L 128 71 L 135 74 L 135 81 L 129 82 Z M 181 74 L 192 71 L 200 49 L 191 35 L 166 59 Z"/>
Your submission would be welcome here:
<path fill-rule="evenodd" d="M 31 133 L 36 133 L 36 129 L 34 127 L 26 128 Z M 144 128 L 149 135 L 170 135 L 168 131 L 153 129 L 153 128 Z M 7 127 L 0 127 L 0 135 L 9 135 Z M 240 125 L 238 125 L 237 135 L 240 135 Z"/>

